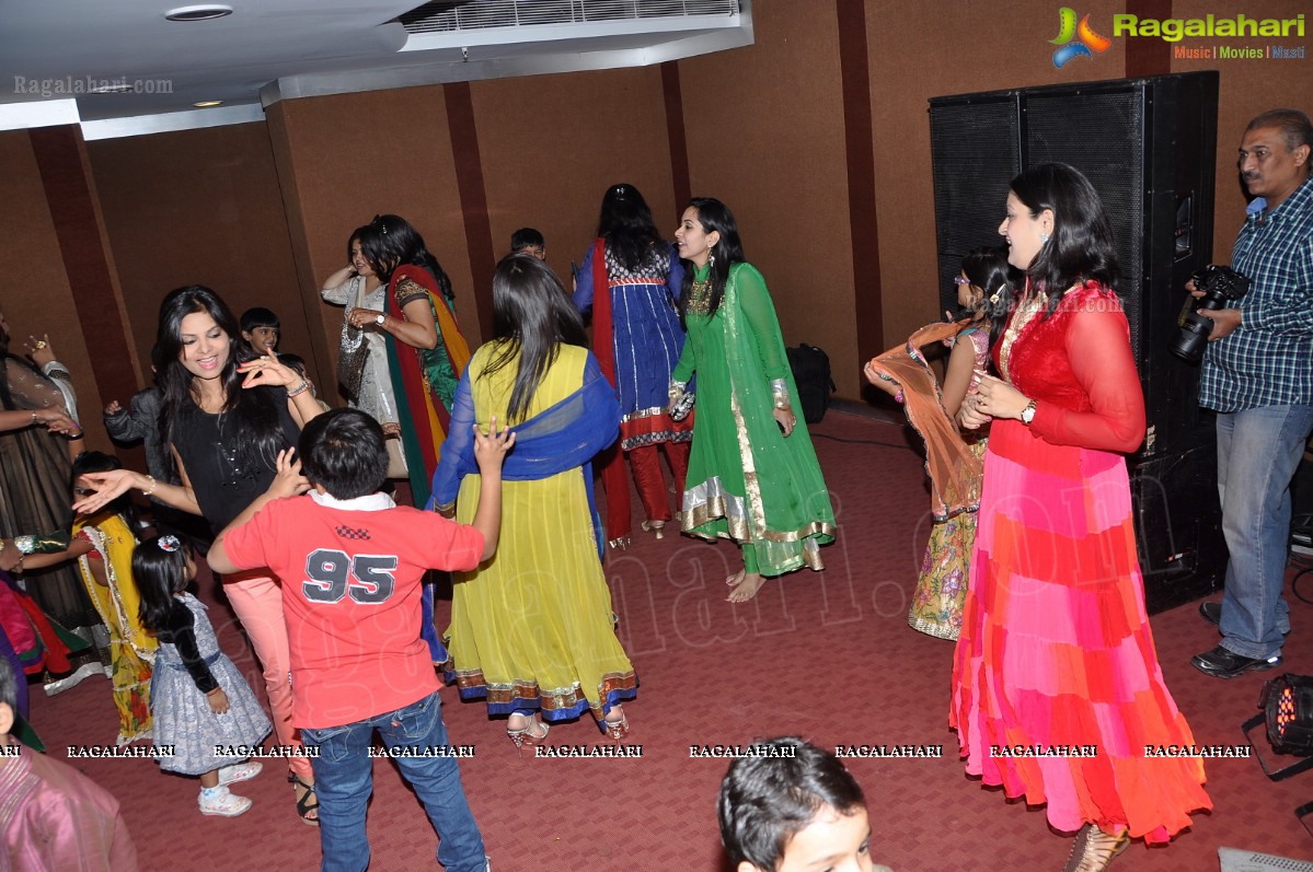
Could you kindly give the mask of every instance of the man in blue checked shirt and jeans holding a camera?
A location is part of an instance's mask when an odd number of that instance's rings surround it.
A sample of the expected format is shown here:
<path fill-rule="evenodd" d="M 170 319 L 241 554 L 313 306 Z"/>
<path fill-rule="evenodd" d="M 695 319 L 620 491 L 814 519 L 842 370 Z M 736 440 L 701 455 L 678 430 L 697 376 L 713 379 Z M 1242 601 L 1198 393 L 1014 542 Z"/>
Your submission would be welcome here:
<path fill-rule="evenodd" d="M 1249 122 L 1239 173 L 1253 202 L 1232 269 L 1251 281 L 1213 320 L 1199 404 L 1217 412 L 1217 490 L 1230 549 L 1222 602 L 1200 606 L 1222 641 L 1195 669 L 1236 678 L 1281 662 L 1291 479 L 1313 427 L 1313 126 L 1295 109 Z M 1196 296 L 1201 294 L 1191 290 Z"/>

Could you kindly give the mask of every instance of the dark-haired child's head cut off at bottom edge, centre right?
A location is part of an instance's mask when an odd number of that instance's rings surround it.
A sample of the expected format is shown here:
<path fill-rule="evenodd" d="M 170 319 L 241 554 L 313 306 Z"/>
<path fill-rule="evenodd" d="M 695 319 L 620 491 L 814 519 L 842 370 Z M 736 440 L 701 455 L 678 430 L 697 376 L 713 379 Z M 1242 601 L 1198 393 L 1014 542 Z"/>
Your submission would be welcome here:
<path fill-rule="evenodd" d="M 735 872 L 890 872 L 871 859 L 861 785 L 800 738 L 756 742 L 730 763 L 716 810 Z"/>

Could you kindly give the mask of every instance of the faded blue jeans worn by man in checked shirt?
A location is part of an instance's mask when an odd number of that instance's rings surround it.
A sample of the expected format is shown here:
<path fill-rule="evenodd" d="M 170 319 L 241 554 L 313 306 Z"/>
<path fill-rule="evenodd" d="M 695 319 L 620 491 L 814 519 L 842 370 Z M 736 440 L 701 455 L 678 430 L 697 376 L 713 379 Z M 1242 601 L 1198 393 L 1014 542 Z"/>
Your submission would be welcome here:
<path fill-rule="evenodd" d="M 1217 416 L 1217 493 L 1230 549 L 1222 648 L 1242 657 L 1281 652 L 1291 631 L 1285 587 L 1291 480 L 1313 427 L 1313 405 L 1266 405 Z"/>

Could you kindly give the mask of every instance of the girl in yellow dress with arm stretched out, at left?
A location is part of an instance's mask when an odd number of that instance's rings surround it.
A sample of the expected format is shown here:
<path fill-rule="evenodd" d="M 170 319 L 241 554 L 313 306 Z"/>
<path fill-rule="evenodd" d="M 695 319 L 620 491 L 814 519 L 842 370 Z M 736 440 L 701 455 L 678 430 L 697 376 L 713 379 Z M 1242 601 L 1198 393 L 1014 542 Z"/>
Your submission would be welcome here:
<path fill-rule="evenodd" d="M 74 498 L 96 492 L 96 485 L 85 477 L 88 472 L 121 467 L 118 458 L 100 451 L 77 455 L 72 468 Z M 25 552 L 24 561 L 33 570 L 77 561 L 87 595 L 109 631 L 109 679 L 118 709 L 119 745 L 151 737 L 150 681 L 156 641 L 137 614 L 139 597 L 131 572 L 135 514 L 131 498 L 123 494 L 98 511 L 77 514 L 71 535 L 62 530 L 3 542 L 5 548 L 12 544 Z M 100 664 L 96 666 L 98 670 Z"/>

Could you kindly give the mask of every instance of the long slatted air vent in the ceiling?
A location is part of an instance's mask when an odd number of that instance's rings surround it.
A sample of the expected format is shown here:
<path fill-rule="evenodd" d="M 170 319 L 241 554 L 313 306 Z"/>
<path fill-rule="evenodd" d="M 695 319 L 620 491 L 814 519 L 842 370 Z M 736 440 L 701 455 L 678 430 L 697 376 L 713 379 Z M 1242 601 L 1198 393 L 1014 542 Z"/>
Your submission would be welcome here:
<path fill-rule="evenodd" d="M 436 0 L 402 14 L 400 22 L 410 33 L 449 33 L 738 13 L 739 0 Z"/>

